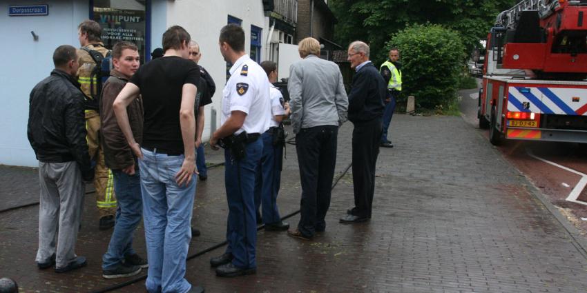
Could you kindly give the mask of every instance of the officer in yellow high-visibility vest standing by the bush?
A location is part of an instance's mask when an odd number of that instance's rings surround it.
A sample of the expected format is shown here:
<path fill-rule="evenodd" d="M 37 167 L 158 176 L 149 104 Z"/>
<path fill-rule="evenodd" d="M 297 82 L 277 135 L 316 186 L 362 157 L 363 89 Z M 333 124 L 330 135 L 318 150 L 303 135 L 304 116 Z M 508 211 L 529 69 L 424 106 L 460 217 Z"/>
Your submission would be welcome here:
<path fill-rule="evenodd" d="M 393 148 L 391 141 L 387 140 L 387 129 L 392 122 L 394 110 L 396 109 L 396 99 L 401 93 L 401 63 L 399 63 L 399 50 L 392 48 L 389 50 L 389 59 L 387 59 L 379 68 L 379 73 L 387 83 L 387 97 L 385 99 L 385 110 L 383 112 L 383 134 L 381 135 L 380 145 L 384 148 Z"/>

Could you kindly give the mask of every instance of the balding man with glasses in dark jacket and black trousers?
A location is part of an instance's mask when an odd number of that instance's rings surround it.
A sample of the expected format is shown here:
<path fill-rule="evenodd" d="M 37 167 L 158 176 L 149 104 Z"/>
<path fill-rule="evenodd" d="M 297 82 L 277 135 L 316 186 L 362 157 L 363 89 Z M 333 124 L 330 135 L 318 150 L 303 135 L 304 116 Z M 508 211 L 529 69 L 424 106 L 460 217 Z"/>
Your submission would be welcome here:
<path fill-rule="evenodd" d="M 351 43 L 348 60 L 351 68 L 356 70 L 349 92 L 348 115 L 354 125 L 352 156 L 355 206 L 340 218 L 340 223 L 360 223 L 371 219 L 381 117 L 385 108 L 385 81 L 369 61 L 369 46 L 366 43 Z"/>

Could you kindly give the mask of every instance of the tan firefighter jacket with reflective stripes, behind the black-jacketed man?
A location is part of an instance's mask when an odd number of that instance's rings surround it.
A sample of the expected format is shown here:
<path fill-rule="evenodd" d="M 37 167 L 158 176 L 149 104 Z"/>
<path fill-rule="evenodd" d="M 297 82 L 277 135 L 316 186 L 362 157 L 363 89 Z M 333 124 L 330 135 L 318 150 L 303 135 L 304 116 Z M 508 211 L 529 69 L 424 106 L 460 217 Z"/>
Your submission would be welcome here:
<path fill-rule="evenodd" d="M 102 56 L 106 57 L 108 49 L 104 47 L 104 43 L 90 43 L 86 48 L 95 50 L 102 53 Z M 84 92 L 86 96 L 86 110 L 98 110 L 98 101 L 93 101 L 93 95 L 90 92 L 90 88 L 93 88 L 94 96 L 97 94 L 97 80 L 95 78 L 90 79 L 92 70 L 96 65 L 101 66 L 102 64 L 96 64 L 94 59 L 88 52 L 82 49 L 77 49 L 77 58 L 79 60 L 79 69 L 77 70 L 77 81 L 81 84 L 81 92 Z M 93 83 L 93 85 L 91 84 Z"/>

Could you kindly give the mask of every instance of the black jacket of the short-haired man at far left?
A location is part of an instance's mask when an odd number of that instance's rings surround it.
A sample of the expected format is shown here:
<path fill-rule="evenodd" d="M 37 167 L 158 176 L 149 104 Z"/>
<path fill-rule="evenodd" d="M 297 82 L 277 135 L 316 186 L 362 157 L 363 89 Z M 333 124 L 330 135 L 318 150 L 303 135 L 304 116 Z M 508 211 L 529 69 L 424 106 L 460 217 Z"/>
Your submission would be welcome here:
<path fill-rule="evenodd" d="M 84 94 L 75 78 L 55 69 L 30 92 L 27 136 L 37 159 L 44 163 L 75 161 L 84 180 L 94 170 L 86 144 Z"/>

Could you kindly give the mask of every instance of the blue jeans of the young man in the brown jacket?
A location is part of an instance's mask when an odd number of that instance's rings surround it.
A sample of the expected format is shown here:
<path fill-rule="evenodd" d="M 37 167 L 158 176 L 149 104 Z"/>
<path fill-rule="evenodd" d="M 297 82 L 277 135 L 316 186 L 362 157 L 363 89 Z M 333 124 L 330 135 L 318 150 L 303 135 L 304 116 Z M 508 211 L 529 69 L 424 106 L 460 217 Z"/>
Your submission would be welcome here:
<path fill-rule="evenodd" d="M 124 256 L 135 254 L 133 234 L 142 216 L 141 176 L 128 175 L 120 170 L 114 174 L 114 191 L 117 195 L 116 224 L 110 244 L 102 256 L 102 270 L 114 270 L 122 265 Z"/>

